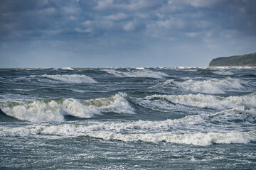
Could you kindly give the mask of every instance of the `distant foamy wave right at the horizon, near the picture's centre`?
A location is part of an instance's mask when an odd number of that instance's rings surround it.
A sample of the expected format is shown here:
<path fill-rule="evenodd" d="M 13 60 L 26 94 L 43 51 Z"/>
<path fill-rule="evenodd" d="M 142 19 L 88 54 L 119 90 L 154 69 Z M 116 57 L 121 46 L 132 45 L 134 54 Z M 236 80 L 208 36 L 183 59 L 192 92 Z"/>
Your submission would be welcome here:
<path fill-rule="evenodd" d="M 114 69 L 103 69 L 103 71 L 107 72 L 108 74 L 112 74 L 115 77 L 148 77 L 155 79 L 164 79 L 164 77 L 169 77 L 169 75 L 163 72 L 153 72 L 148 69 L 136 69 L 132 72 L 119 72 Z"/>

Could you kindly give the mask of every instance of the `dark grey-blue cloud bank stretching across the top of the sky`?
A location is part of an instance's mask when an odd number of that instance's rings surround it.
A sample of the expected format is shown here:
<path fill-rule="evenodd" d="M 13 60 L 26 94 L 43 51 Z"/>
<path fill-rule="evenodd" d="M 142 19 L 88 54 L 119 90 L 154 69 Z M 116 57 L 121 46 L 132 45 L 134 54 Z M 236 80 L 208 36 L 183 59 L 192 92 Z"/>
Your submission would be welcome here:
<path fill-rule="evenodd" d="M 256 2 L 250 1 L 1 1 L 1 39 L 56 38 L 65 34 L 144 32 L 196 35 L 207 29 L 255 35 Z M 163 32 L 164 31 L 164 32 Z M 166 32 L 165 32 L 166 31 Z M 189 34 L 188 34 L 189 35 Z M 68 37 L 77 38 L 77 37 Z"/>

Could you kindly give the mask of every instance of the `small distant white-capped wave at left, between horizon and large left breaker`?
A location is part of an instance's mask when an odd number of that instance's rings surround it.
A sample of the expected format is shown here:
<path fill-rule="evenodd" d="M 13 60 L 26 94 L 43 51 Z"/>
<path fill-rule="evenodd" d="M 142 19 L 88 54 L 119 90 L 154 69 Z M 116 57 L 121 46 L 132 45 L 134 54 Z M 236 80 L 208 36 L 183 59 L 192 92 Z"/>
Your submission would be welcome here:
<path fill-rule="evenodd" d="M 46 77 L 48 79 L 55 79 L 70 83 L 96 83 L 94 79 L 87 77 L 85 75 L 78 75 L 78 74 L 55 74 L 55 75 L 48 75 L 44 74 L 41 77 Z"/>

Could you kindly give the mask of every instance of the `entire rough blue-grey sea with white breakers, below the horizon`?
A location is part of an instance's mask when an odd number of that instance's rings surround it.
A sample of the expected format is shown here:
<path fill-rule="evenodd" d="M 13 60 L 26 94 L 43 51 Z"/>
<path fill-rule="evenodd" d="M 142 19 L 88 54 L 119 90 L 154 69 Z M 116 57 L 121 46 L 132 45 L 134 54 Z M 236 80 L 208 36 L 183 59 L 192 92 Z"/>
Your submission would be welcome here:
<path fill-rule="evenodd" d="M 255 67 L 0 69 L 0 169 L 255 169 Z"/>

